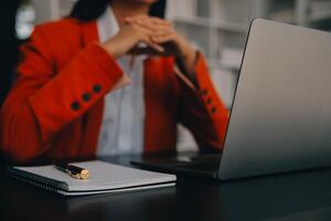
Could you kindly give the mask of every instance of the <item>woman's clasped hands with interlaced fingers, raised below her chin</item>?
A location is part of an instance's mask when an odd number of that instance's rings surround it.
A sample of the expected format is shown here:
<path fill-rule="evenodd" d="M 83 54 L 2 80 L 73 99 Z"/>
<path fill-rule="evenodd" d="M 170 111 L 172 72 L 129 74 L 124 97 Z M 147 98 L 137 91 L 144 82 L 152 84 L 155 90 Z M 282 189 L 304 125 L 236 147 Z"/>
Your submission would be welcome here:
<path fill-rule="evenodd" d="M 120 31 L 102 45 L 113 57 L 125 54 L 173 55 L 188 72 L 193 72 L 195 50 L 170 22 L 149 15 L 129 17 L 125 22 Z M 139 46 L 141 43 L 147 46 Z"/>

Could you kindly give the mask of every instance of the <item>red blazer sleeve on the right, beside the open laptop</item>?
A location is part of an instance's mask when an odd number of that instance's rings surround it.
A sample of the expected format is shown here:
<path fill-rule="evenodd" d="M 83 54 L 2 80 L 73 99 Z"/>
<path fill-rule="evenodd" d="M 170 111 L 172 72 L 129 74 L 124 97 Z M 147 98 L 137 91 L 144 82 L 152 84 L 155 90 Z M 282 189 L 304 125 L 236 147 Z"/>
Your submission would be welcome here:
<path fill-rule="evenodd" d="M 196 84 L 178 75 L 180 87 L 179 120 L 191 130 L 200 149 L 222 150 L 228 123 L 228 110 L 210 77 L 206 62 L 197 53 Z"/>

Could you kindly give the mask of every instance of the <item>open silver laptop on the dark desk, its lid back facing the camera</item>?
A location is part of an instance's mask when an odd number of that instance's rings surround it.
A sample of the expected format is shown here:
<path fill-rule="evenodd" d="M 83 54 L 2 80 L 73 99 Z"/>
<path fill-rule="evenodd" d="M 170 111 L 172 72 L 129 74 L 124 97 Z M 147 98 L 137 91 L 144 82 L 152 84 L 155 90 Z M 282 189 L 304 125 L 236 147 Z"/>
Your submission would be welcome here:
<path fill-rule="evenodd" d="M 254 20 L 222 157 L 202 158 L 136 164 L 222 180 L 330 167 L 331 33 Z"/>

